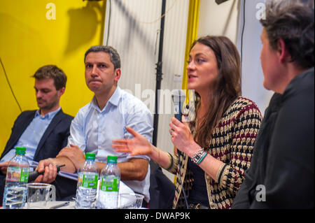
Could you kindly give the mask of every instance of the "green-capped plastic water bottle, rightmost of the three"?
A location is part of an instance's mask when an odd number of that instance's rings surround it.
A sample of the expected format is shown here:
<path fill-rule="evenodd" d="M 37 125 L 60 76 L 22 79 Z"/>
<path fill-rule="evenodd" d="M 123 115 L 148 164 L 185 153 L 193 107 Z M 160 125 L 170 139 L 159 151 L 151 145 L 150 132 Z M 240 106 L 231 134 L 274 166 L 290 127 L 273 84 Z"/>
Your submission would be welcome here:
<path fill-rule="evenodd" d="M 100 179 L 97 208 L 117 208 L 120 184 L 120 169 L 117 166 L 117 157 L 107 157 L 107 165 L 102 168 Z"/>

